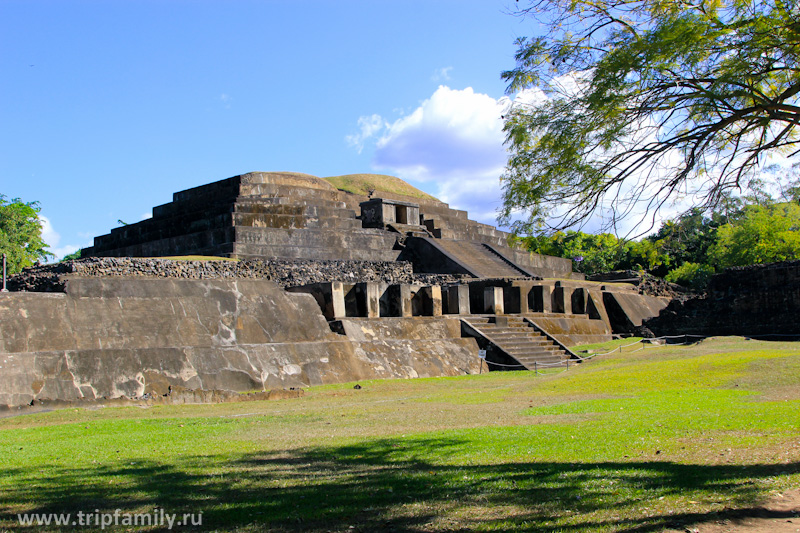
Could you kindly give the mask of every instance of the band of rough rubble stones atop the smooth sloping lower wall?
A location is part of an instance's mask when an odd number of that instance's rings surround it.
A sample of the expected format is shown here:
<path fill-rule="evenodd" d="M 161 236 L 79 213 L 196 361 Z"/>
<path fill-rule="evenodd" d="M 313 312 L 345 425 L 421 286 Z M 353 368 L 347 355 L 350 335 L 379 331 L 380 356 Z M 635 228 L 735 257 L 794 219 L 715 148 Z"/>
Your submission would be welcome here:
<path fill-rule="evenodd" d="M 63 276 L 149 277 L 173 279 L 260 279 L 281 287 L 323 281 L 384 283 L 452 283 L 452 275 L 415 275 L 404 261 L 245 260 L 184 261 L 160 258 L 90 257 L 25 269 L 8 281 L 11 291 L 63 292 Z"/>

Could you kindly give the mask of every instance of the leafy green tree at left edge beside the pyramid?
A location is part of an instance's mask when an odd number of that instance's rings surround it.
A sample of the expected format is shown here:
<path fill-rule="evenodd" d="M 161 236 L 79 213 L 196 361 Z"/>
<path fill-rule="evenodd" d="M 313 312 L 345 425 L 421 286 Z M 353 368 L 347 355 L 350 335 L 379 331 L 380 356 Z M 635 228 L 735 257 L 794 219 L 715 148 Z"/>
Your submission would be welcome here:
<path fill-rule="evenodd" d="M 10 202 L 0 194 L 0 253 L 7 258 L 8 273 L 16 274 L 39 260 L 53 257 L 42 240 L 38 202 Z"/>

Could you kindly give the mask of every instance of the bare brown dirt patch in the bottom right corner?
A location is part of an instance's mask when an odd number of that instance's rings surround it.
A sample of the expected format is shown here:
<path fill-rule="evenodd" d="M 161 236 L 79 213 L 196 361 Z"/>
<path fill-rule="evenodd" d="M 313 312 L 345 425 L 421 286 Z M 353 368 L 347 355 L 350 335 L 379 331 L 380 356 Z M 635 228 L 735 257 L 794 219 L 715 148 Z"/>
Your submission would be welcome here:
<path fill-rule="evenodd" d="M 776 495 L 761 507 L 721 513 L 713 522 L 665 533 L 797 533 L 800 532 L 800 489 Z"/>

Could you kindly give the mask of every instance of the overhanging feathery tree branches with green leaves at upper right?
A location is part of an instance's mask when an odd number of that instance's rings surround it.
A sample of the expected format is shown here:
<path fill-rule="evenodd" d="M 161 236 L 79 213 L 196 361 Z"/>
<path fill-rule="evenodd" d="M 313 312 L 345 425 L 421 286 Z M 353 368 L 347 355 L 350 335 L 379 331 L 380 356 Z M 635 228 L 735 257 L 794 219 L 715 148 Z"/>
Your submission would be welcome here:
<path fill-rule="evenodd" d="M 517 98 L 498 218 L 517 233 L 598 212 L 613 227 L 678 198 L 713 207 L 770 154 L 800 151 L 794 0 L 531 0 L 519 14 L 548 31 L 519 39 L 503 73 Z"/>

